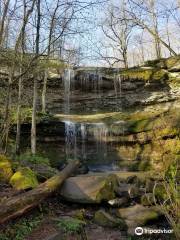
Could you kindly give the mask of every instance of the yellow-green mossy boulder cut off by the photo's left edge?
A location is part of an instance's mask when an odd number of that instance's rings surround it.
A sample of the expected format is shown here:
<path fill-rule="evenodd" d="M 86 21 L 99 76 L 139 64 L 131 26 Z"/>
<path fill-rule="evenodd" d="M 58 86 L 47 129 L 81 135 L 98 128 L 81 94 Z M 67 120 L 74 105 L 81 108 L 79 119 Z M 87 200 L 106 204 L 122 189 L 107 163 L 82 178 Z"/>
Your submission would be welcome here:
<path fill-rule="evenodd" d="M 0 155 L 0 181 L 8 182 L 12 175 L 13 171 L 10 160 L 4 155 Z"/>

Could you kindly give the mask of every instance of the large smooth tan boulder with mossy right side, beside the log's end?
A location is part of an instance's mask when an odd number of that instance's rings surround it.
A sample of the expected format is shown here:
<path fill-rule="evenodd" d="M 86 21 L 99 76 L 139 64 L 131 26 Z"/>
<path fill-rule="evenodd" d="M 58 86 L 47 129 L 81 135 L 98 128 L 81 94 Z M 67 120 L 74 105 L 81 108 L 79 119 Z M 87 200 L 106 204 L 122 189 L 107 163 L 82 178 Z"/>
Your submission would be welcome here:
<path fill-rule="evenodd" d="M 117 176 L 81 175 L 66 179 L 61 195 L 68 201 L 77 203 L 100 203 L 115 198 Z"/>

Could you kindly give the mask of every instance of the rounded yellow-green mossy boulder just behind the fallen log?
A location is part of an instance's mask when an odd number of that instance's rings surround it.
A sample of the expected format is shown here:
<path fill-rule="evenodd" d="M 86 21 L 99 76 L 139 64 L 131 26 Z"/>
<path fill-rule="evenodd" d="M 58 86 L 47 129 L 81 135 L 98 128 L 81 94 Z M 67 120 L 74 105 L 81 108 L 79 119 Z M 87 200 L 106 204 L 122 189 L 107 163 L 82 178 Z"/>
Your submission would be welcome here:
<path fill-rule="evenodd" d="M 11 177 L 10 184 L 17 190 L 32 189 L 38 185 L 36 174 L 28 167 L 19 168 Z"/>

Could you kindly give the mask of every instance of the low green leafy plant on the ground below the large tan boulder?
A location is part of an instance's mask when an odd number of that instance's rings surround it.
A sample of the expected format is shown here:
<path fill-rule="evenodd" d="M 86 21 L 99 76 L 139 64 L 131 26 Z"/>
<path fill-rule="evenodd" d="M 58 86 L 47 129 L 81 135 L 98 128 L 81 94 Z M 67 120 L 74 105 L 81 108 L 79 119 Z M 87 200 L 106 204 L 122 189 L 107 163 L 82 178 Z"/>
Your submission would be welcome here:
<path fill-rule="evenodd" d="M 76 218 L 58 219 L 57 226 L 65 233 L 81 233 L 86 223 Z"/>

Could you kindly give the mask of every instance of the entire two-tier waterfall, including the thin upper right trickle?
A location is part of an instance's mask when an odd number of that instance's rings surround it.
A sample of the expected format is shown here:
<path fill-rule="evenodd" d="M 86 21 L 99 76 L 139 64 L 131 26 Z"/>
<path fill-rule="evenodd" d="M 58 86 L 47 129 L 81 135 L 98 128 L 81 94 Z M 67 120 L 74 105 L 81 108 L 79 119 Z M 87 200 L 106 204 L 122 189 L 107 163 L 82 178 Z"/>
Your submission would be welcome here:
<path fill-rule="evenodd" d="M 84 162 L 93 162 L 91 170 L 96 171 L 98 167 L 104 170 L 116 170 L 114 161 L 109 161 L 109 143 L 107 137 L 110 136 L 108 126 L 103 122 L 73 122 L 68 119 L 71 115 L 71 98 L 73 94 L 74 71 L 66 69 L 64 72 L 64 114 L 67 115 L 65 124 L 65 159 L 80 159 Z M 100 96 L 102 86 L 102 75 L 98 73 L 85 73 L 81 76 L 81 87 L 91 88 Z M 121 96 L 121 78 L 114 80 L 114 89 L 117 99 Z M 86 90 L 86 89 L 85 89 Z M 118 104 L 118 103 L 117 103 Z M 111 153 L 110 153 L 111 154 Z M 109 166 L 111 165 L 111 166 Z M 100 170 L 100 169 L 99 169 Z"/>

